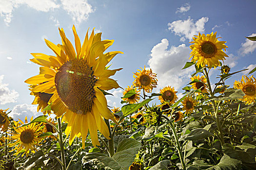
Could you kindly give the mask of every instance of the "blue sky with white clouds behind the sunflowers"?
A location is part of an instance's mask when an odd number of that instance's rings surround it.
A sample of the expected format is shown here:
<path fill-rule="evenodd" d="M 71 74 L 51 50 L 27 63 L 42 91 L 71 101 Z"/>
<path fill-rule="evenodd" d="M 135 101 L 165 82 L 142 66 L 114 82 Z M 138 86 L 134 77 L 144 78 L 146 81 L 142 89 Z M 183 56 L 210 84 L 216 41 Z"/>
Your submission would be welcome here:
<path fill-rule="evenodd" d="M 158 87 L 171 85 L 181 96 L 193 68 L 181 70 L 189 61 L 193 35 L 217 31 L 227 41 L 231 71 L 256 67 L 255 0 L 0 0 L 0 108 L 10 108 L 14 119 L 39 116 L 37 105 L 24 80 L 39 73 L 31 63 L 31 52 L 54 53 L 44 38 L 61 43 L 58 27 L 74 43 L 73 24 L 80 39 L 95 27 L 102 39 L 115 39 L 108 51 L 123 51 L 112 60 L 118 71 L 115 80 L 125 88 L 132 85 L 133 72 L 140 67 L 158 74 Z M 243 72 L 228 81 L 240 80 Z M 211 71 L 215 83 L 218 70 Z M 110 106 L 121 106 L 122 89 L 110 91 Z M 155 100 L 158 102 L 158 99 Z"/>

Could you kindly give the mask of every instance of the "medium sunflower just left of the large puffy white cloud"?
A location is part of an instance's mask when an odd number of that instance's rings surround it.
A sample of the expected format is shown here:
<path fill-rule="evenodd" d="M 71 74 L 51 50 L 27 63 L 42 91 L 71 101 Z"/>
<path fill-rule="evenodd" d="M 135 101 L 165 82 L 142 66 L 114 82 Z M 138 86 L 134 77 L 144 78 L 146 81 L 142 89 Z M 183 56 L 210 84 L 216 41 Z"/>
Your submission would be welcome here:
<path fill-rule="evenodd" d="M 141 68 L 141 70 L 138 69 L 138 72 L 134 73 L 135 80 L 133 84 L 139 89 L 144 89 L 145 92 L 151 93 L 152 89 L 158 85 L 157 74 L 153 73 L 151 68 L 146 70 L 145 67 L 144 69 Z"/>

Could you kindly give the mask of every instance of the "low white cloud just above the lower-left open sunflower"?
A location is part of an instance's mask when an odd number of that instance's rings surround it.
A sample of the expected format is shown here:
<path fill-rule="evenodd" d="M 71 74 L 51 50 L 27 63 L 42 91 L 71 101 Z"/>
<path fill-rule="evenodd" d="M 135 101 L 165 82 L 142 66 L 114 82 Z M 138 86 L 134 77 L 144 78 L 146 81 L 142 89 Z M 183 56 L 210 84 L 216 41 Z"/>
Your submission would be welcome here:
<path fill-rule="evenodd" d="M 28 118 L 28 121 L 30 121 L 30 118 L 33 116 L 35 119 L 39 115 L 42 115 L 42 113 L 37 112 L 37 105 L 29 105 L 29 104 L 18 104 L 13 107 L 12 112 L 9 113 L 9 116 L 12 117 L 14 120 L 22 120 L 24 122 L 25 117 Z"/>

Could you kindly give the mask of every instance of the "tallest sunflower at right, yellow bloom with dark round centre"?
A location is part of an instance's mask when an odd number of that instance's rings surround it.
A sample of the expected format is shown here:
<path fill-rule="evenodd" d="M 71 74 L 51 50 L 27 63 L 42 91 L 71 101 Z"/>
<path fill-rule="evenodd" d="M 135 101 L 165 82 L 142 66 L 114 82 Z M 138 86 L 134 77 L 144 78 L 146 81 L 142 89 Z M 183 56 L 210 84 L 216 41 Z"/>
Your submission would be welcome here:
<path fill-rule="evenodd" d="M 225 57 L 228 57 L 228 55 L 222 50 L 224 49 L 226 51 L 226 46 L 224 43 L 226 41 L 218 41 L 218 37 L 216 38 L 216 33 L 211 34 L 198 34 L 193 37 L 192 42 L 194 43 L 190 46 L 190 49 L 192 50 L 190 52 L 190 57 L 192 57 L 192 62 L 197 61 L 197 66 L 205 67 L 207 65 L 208 68 L 216 68 L 217 66 L 220 66 L 219 60 L 225 60 Z"/>

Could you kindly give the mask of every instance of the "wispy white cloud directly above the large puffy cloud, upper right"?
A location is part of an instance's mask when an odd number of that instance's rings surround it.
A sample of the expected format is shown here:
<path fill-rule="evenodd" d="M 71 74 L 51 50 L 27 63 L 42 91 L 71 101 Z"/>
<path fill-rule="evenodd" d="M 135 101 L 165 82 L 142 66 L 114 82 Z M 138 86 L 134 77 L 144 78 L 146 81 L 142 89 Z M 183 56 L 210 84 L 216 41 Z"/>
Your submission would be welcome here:
<path fill-rule="evenodd" d="M 198 32 L 204 32 L 204 25 L 208 22 L 208 19 L 208 17 L 201 17 L 194 22 L 194 19 L 189 17 L 187 20 L 173 21 L 172 23 L 168 23 L 168 30 L 180 36 L 180 41 L 185 41 L 186 39 L 191 40 Z"/>

